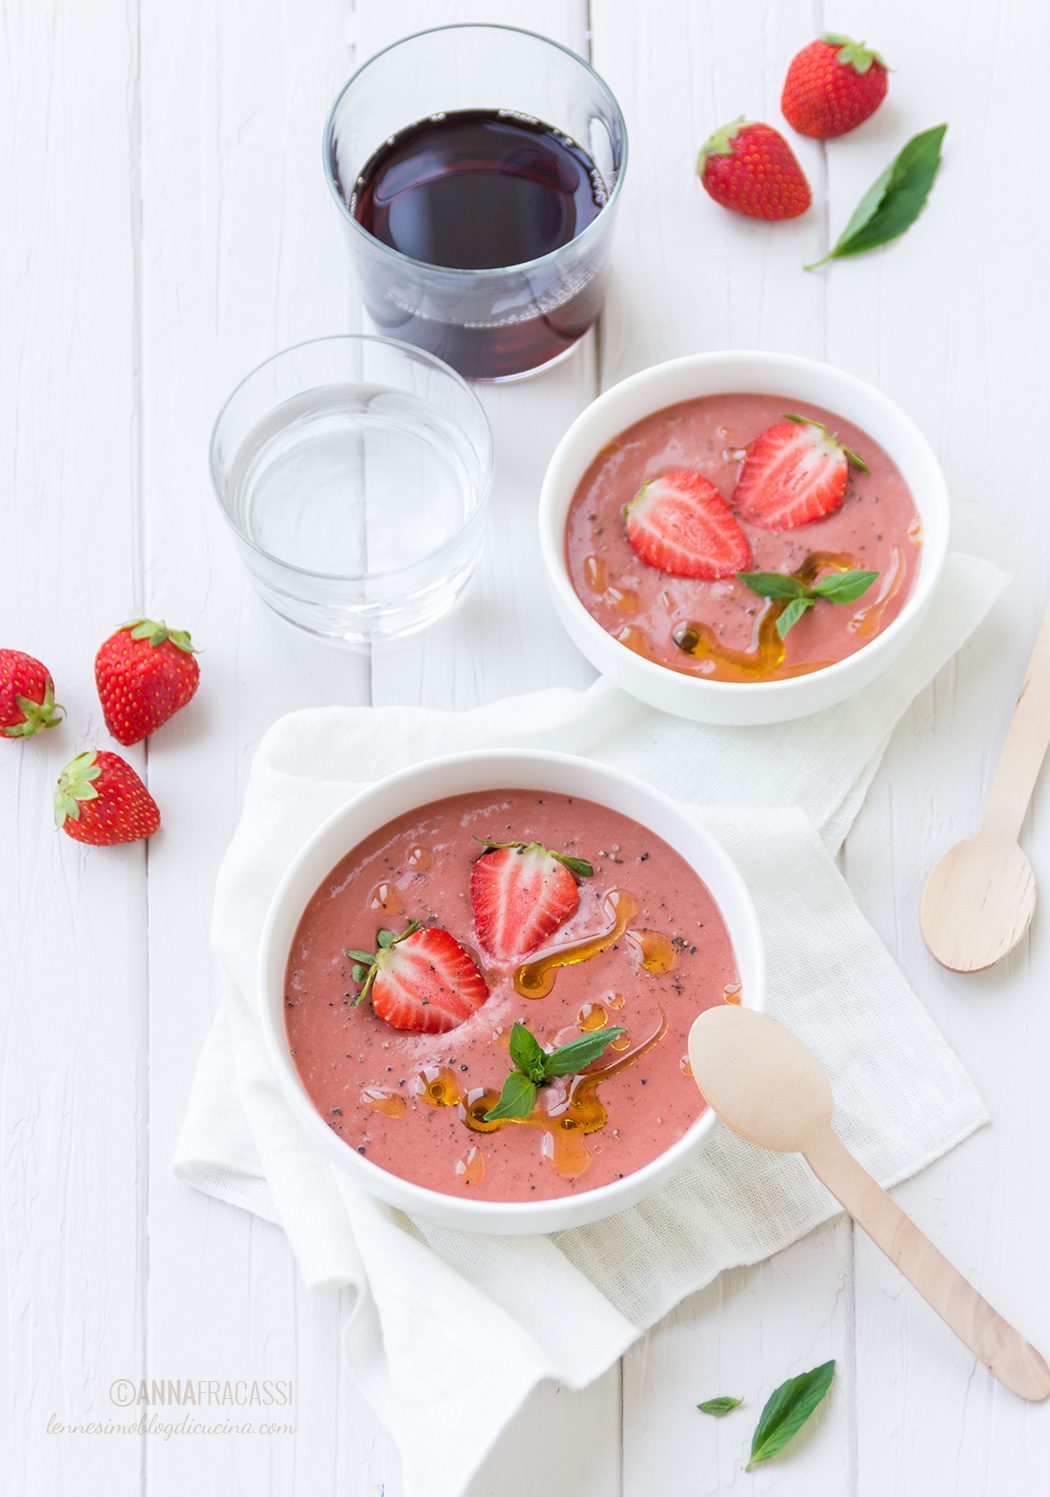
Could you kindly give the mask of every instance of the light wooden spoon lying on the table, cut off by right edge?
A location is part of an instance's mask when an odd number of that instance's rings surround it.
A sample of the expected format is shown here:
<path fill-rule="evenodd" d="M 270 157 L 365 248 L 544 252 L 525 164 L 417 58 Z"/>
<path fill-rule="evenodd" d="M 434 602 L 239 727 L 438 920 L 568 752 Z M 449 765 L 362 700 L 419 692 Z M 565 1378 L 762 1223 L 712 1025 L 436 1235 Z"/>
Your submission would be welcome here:
<path fill-rule="evenodd" d="M 1050 744 L 1050 608 L 1002 746 L 977 837 L 930 870 L 920 925 L 930 955 L 953 972 L 981 972 L 1013 951 L 1035 913 L 1035 874 L 1017 844 Z"/>

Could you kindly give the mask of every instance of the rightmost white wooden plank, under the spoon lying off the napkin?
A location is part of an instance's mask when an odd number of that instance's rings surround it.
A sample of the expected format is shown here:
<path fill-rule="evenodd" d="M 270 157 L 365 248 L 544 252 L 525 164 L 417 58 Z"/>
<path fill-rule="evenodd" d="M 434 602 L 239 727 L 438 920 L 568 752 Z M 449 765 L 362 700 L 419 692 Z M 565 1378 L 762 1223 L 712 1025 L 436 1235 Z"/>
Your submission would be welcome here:
<path fill-rule="evenodd" d="M 905 240 L 822 272 L 830 355 L 908 409 L 938 446 L 956 543 L 1014 573 L 998 617 L 911 714 L 848 844 L 849 880 L 930 1012 L 974 1073 L 993 1126 L 899 1192 L 1005 1314 L 1046 1350 L 1050 1302 L 1041 1254 L 1050 1226 L 1044 1085 L 1050 1043 L 1047 930 L 1002 969 L 953 978 L 926 955 L 918 894 L 926 871 L 969 832 L 989 784 L 1046 597 L 1049 522 L 1035 497 L 1031 439 L 1050 397 L 1050 296 L 1041 243 L 1050 228 L 1028 166 L 1004 148 L 1040 97 L 1050 16 L 1034 6 L 956 7 L 843 0 L 836 27 L 864 34 L 896 67 L 887 106 L 828 147 L 831 226 L 917 130 L 947 120 L 945 165 Z M 876 30 L 878 24 L 878 30 Z M 950 24 L 953 61 L 944 66 Z M 1049 816 L 1040 795 L 1028 835 L 1046 879 Z M 986 1497 L 1046 1484 L 1050 1421 L 996 1388 L 893 1269 L 857 1241 L 858 1491 Z"/>

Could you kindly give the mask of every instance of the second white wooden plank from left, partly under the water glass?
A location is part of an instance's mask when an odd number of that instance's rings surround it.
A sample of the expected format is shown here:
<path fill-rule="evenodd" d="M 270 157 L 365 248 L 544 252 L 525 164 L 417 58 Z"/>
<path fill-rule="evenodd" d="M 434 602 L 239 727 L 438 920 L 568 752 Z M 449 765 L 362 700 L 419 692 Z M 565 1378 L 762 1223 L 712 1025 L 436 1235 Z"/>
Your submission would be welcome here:
<path fill-rule="evenodd" d="M 350 66 L 340 0 L 144 10 L 145 594 L 205 650 L 199 699 L 150 744 L 168 834 L 150 855 L 148 1362 L 153 1376 L 297 1389 L 294 1437 L 150 1442 L 160 1497 L 343 1490 L 361 1464 L 340 1307 L 306 1295 L 279 1232 L 169 1174 L 219 997 L 211 889 L 252 748 L 285 711 L 367 701 L 362 656 L 298 633 L 250 593 L 207 481 L 210 425 L 234 383 L 280 347 L 356 323 L 321 172 L 325 111 Z"/>

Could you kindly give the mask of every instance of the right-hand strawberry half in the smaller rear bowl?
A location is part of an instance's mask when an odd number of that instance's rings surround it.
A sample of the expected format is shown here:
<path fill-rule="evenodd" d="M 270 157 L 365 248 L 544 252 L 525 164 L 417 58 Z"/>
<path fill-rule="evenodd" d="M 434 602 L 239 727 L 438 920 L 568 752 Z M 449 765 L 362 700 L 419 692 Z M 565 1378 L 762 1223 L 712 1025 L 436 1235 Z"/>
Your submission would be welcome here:
<path fill-rule="evenodd" d="M 867 463 L 819 421 L 785 416 L 752 442 L 732 507 L 765 530 L 794 530 L 824 519 L 846 497 L 851 463 L 867 473 Z"/>

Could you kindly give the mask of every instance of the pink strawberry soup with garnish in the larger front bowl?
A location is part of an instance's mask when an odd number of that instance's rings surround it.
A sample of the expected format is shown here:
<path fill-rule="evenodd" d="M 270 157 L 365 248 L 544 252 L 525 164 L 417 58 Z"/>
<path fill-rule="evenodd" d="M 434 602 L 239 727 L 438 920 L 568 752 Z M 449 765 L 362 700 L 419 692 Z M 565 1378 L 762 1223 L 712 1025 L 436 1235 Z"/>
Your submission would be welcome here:
<path fill-rule="evenodd" d="M 704 1111 L 686 1040 L 738 1003 L 695 870 L 542 790 L 449 796 L 353 847 L 292 940 L 285 1022 L 321 1117 L 374 1165 L 487 1201 L 622 1180 Z"/>

